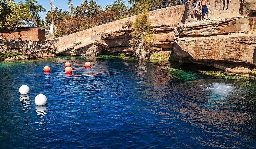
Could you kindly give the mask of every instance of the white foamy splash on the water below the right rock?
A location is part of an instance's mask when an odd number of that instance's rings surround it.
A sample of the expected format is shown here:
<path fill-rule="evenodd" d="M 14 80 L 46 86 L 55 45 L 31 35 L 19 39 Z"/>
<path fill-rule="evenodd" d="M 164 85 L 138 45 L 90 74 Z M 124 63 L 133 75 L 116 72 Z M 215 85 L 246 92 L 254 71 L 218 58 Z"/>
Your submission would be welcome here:
<path fill-rule="evenodd" d="M 212 84 L 206 85 L 206 88 L 205 88 L 205 90 L 211 90 L 215 94 L 218 94 L 221 96 L 230 95 L 230 92 L 234 91 L 234 89 L 235 89 L 234 86 L 231 86 L 226 83 L 212 83 Z"/>

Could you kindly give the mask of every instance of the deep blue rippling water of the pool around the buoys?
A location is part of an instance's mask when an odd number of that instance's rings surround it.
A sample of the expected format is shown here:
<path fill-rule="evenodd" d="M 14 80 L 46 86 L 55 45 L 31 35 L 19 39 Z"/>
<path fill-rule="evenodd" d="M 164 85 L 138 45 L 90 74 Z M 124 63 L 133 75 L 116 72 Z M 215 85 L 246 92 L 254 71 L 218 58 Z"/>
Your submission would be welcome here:
<path fill-rule="evenodd" d="M 256 147 L 256 80 L 199 70 L 211 68 L 112 57 L 0 62 L 0 148 Z M 28 95 L 18 92 L 24 84 Z M 47 105 L 35 106 L 38 94 Z"/>

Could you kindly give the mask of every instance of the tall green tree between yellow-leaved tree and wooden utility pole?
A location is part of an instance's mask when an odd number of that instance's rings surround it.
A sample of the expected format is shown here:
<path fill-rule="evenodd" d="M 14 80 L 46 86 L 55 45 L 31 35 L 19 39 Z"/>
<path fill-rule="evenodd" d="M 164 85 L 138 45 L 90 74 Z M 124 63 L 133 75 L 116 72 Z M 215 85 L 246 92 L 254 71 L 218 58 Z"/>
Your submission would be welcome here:
<path fill-rule="evenodd" d="M 31 19 L 26 19 L 25 21 L 32 26 L 40 25 L 41 18 L 39 17 L 39 12 L 45 12 L 45 8 L 42 5 L 38 5 L 37 0 L 26 0 L 25 5 L 29 8 L 29 13 L 31 14 Z"/>

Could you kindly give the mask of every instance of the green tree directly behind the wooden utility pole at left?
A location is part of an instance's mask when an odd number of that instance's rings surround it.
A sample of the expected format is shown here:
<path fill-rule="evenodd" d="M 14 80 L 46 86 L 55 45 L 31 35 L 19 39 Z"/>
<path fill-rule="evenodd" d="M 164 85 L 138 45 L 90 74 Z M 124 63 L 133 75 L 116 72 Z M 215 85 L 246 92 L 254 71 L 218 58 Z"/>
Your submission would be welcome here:
<path fill-rule="evenodd" d="M 57 22 L 60 22 L 64 20 L 65 18 L 69 17 L 69 12 L 68 11 L 63 11 L 62 9 L 59 9 L 58 7 L 54 8 L 52 10 L 53 13 L 53 18 L 54 18 L 54 23 L 56 24 Z M 51 11 L 48 11 L 48 13 L 45 16 L 45 21 L 47 25 L 52 24 L 52 13 Z"/>

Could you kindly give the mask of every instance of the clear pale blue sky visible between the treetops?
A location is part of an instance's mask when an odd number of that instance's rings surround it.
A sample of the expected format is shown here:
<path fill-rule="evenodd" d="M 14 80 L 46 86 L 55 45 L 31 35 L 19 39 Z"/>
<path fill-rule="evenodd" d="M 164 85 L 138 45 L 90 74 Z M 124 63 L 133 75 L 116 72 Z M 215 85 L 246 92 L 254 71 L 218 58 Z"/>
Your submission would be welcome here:
<path fill-rule="evenodd" d="M 20 0 L 15 0 L 16 3 L 18 3 Z M 25 2 L 25 0 L 22 0 Z M 51 10 L 50 6 L 50 0 L 37 0 L 39 5 L 43 5 L 43 7 L 46 9 L 44 13 L 40 12 L 39 16 L 42 20 L 45 20 L 45 16 L 48 12 L 48 10 Z M 80 5 L 84 0 L 71 0 L 73 3 L 74 8 L 78 5 Z M 90 0 L 88 0 L 89 2 Z M 100 5 L 104 9 L 106 8 L 105 5 L 111 5 L 113 4 L 114 0 L 95 0 L 97 5 Z M 125 5 L 128 5 L 128 0 L 125 0 Z M 61 8 L 62 10 L 66 10 L 70 12 L 70 8 L 68 7 L 69 0 L 52 0 L 52 9 L 55 7 Z"/>

